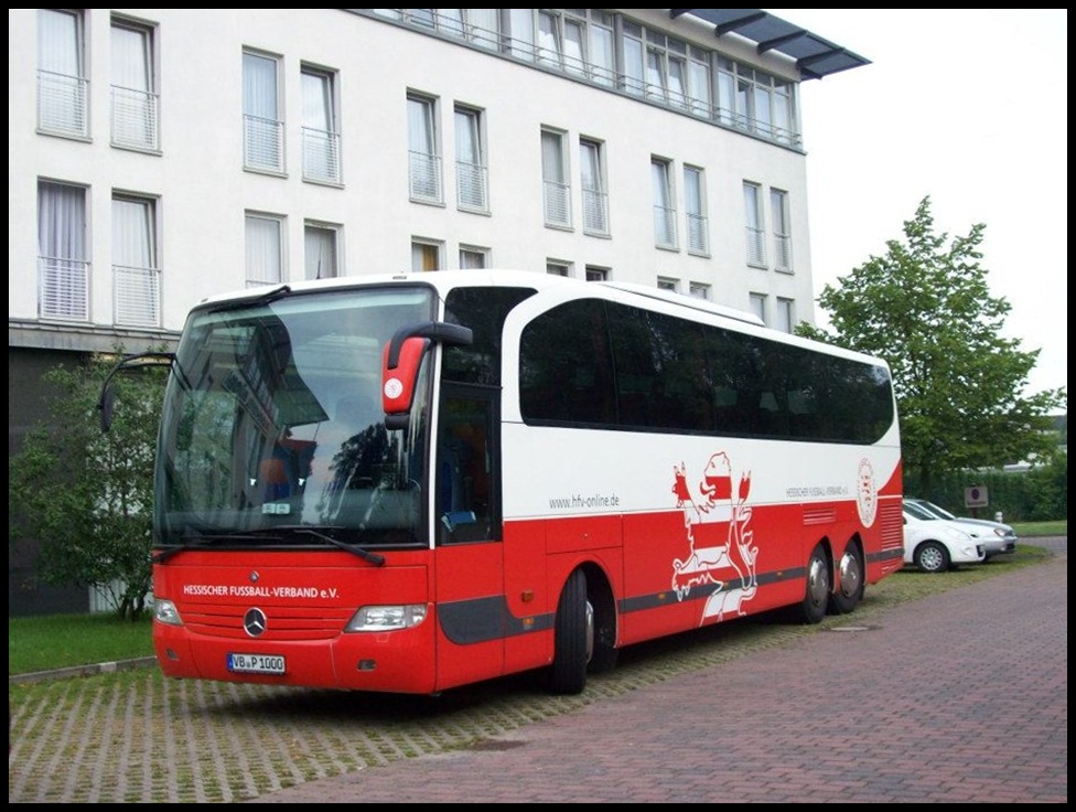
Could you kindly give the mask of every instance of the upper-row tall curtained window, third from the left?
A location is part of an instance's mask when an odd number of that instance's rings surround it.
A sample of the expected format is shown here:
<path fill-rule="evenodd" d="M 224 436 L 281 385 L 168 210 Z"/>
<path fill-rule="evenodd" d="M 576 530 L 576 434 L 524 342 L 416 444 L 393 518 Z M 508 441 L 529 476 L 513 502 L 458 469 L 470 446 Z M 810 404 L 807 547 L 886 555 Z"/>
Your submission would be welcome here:
<path fill-rule="evenodd" d="M 284 124 L 272 56 L 243 53 L 243 165 L 262 172 L 284 171 Z"/>

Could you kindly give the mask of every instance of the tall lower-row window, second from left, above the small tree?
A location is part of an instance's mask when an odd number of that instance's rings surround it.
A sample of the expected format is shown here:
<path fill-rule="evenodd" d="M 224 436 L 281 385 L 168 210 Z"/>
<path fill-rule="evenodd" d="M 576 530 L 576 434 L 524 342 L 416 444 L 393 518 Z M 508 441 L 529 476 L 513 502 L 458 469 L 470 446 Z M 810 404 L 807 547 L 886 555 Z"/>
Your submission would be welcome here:
<path fill-rule="evenodd" d="M 112 308 L 117 324 L 161 325 L 155 212 L 153 200 L 112 196 Z"/>

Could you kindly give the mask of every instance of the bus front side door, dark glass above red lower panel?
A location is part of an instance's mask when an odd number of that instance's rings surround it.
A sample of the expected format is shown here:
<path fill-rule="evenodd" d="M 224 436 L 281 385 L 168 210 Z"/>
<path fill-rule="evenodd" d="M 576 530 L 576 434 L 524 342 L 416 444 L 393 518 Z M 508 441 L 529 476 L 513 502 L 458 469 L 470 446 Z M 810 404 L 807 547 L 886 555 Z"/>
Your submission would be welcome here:
<path fill-rule="evenodd" d="M 438 683 L 504 669 L 497 387 L 444 383 L 434 469 Z"/>

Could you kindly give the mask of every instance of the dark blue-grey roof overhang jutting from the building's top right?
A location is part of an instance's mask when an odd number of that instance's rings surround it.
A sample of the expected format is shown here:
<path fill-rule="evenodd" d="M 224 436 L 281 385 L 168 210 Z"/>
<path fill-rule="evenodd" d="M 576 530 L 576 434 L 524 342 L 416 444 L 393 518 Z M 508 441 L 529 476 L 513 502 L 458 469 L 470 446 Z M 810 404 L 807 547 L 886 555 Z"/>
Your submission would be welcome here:
<path fill-rule="evenodd" d="M 672 19 L 681 14 L 706 20 L 714 26 L 714 36 L 736 33 L 756 43 L 760 54 L 776 51 L 795 60 L 805 81 L 871 64 L 870 60 L 762 9 L 669 9 Z"/>

